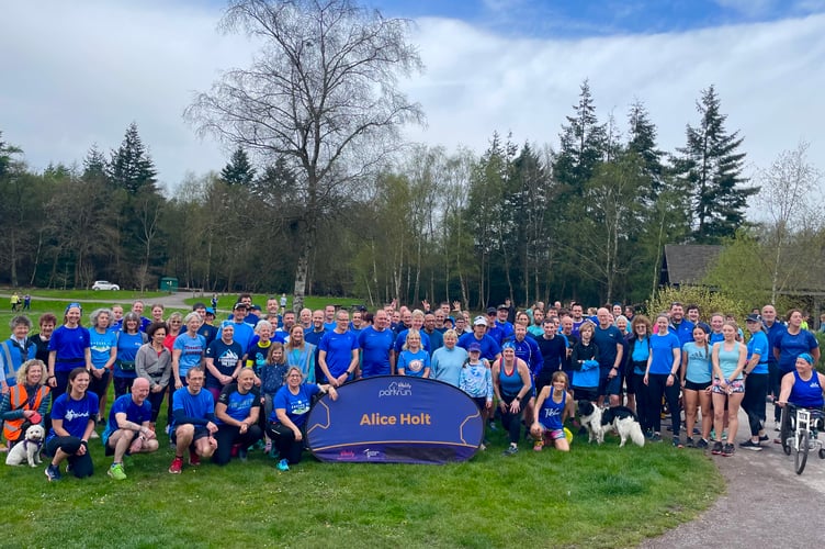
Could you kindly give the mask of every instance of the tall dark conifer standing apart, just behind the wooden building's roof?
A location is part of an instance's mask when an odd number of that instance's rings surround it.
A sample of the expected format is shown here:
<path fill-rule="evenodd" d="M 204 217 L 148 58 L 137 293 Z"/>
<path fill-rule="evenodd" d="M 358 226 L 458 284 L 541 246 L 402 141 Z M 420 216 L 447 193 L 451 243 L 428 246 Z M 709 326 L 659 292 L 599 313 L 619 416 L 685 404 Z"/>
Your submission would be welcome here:
<path fill-rule="evenodd" d="M 727 116 L 720 112 L 720 99 L 711 86 L 697 102 L 699 125 L 687 128 L 687 145 L 677 149 L 682 157 L 675 167 L 685 188 L 691 192 L 693 238 L 714 244 L 733 237 L 745 223 L 747 198 L 758 188 L 744 188 L 744 137 L 725 130 Z"/>

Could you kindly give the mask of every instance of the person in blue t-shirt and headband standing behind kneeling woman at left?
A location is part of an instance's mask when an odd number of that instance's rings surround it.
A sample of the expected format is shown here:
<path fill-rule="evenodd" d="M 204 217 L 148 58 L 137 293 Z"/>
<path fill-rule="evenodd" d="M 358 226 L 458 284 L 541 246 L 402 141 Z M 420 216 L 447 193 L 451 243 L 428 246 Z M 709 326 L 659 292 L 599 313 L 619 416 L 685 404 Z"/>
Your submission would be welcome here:
<path fill-rule="evenodd" d="M 83 310 L 80 303 L 69 303 L 64 314 L 63 326 L 55 329 L 48 340 L 48 376 L 52 400 L 66 392 L 69 372 L 78 367 L 92 367 L 89 330 L 81 325 Z M 97 402 L 95 402 L 97 406 Z"/>

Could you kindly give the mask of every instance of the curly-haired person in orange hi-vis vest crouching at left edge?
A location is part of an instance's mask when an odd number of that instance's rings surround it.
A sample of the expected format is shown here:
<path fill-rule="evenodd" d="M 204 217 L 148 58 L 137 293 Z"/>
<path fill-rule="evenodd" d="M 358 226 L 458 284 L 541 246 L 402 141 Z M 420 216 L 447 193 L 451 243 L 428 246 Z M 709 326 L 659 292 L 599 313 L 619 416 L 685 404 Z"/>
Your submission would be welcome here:
<path fill-rule="evenodd" d="M 19 442 L 27 425 L 44 426 L 49 404 L 49 388 L 44 385 L 46 365 L 26 360 L 16 372 L 16 383 L 3 394 L 0 403 L 0 421 L 3 422 L 3 438 L 11 448 Z M 27 424 L 24 427 L 24 425 Z"/>

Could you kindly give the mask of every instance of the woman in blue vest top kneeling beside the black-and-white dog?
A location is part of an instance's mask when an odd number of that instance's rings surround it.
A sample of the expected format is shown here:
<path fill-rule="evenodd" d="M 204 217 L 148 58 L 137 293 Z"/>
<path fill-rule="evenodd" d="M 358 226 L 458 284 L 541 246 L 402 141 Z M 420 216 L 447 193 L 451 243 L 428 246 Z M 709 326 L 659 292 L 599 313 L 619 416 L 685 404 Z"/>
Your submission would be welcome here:
<path fill-rule="evenodd" d="M 570 445 L 564 436 L 564 421 L 574 415 L 573 395 L 567 392 L 567 374 L 557 371 L 553 374 L 550 385 L 542 388 L 535 399 L 533 425 L 530 433 L 536 440 L 550 444 L 552 440 L 557 450 L 569 451 Z M 536 444 L 533 449 L 541 451 L 544 444 Z"/>

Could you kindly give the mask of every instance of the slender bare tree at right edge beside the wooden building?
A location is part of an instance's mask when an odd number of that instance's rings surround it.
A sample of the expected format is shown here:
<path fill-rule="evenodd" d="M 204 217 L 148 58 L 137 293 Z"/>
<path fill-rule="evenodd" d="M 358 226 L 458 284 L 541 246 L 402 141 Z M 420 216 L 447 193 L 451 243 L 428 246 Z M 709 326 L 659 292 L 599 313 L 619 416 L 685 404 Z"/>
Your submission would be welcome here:
<path fill-rule="evenodd" d="M 801 273 L 788 261 L 789 245 L 794 233 L 814 228 L 815 212 L 820 211 L 818 197 L 822 172 L 807 161 L 806 142 L 800 142 L 795 150 L 783 150 L 770 168 L 758 175 L 761 189 L 758 202 L 768 217 L 767 239 L 773 257 L 769 261 L 771 270 L 770 300 L 776 303 L 777 293 L 784 289 L 789 279 Z M 790 267 L 790 268 L 789 268 Z"/>

